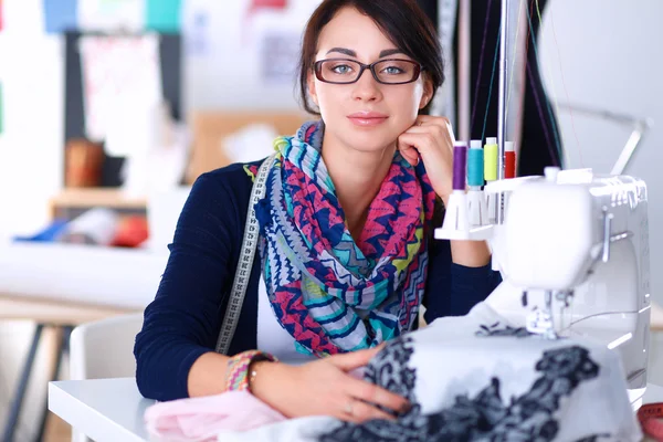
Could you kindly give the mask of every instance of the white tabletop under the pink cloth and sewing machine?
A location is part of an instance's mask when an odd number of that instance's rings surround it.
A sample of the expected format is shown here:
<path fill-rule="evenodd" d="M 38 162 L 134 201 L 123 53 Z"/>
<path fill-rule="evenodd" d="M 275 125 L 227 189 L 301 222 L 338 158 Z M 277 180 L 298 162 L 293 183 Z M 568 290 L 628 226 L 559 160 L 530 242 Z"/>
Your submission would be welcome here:
<path fill-rule="evenodd" d="M 643 402 L 663 402 L 663 387 L 649 385 Z M 149 441 L 143 415 L 154 403 L 134 378 L 49 383 L 49 409 L 96 442 Z"/>

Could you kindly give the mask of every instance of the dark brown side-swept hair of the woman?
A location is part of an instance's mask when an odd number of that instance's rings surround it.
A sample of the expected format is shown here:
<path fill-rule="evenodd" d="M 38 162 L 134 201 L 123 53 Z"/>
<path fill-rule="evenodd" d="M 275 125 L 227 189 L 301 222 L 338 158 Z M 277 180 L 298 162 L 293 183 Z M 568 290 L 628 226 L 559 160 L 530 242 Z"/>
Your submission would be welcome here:
<path fill-rule="evenodd" d="M 319 115 L 311 105 L 307 78 L 313 71 L 317 44 L 323 28 L 343 8 L 350 7 L 370 17 L 393 44 L 423 66 L 433 85 L 433 95 L 444 82 L 444 62 L 435 27 L 415 0 L 324 0 L 315 10 L 304 31 L 299 59 L 299 99 L 304 109 Z M 432 97 L 421 113 L 428 113 Z"/>

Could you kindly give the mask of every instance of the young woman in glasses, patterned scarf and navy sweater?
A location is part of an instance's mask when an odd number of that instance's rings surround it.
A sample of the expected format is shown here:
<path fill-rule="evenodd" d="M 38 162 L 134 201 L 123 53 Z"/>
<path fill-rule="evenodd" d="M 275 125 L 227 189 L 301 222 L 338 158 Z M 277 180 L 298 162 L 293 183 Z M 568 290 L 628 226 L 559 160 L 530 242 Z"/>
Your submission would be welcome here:
<path fill-rule="evenodd" d="M 322 2 L 299 75 L 320 120 L 275 141 L 232 357 L 213 349 L 262 161 L 194 183 L 136 338 L 144 396 L 220 393 L 239 377 L 288 417 L 361 422 L 408 408 L 349 371 L 415 328 L 421 304 L 429 322 L 463 315 L 498 283 L 485 243 L 431 239 L 435 201 L 452 190 L 452 129 L 424 115 L 442 72 L 414 0 Z"/>

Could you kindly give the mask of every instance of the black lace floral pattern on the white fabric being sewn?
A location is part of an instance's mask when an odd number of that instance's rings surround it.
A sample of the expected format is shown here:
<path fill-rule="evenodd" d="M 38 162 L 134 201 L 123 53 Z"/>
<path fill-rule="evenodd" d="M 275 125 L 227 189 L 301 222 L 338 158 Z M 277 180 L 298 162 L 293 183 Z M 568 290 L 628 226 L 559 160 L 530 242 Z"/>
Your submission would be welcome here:
<path fill-rule="evenodd" d="M 477 336 L 518 336 L 526 330 L 482 327 Z M 560 401 L 581 382 L 597 378 L 600 367 L 588 349 L 569 345 L 544 351 L 536 361 L 538 377 L 519 397 L 503 398 L 501 381 L 493 377 L 476 396 L 460 394 L 454 403 L 440 412 L 422 414 L 415 397 L 417 369 L 410 366 L 414 354 L 412 337 L 402 336 L 390 343 L 367 367 L 365 379 L 410 400 L 412 409 L 396 422 L 373 420 L 362 424 L 344 423 L 320 436 L 322 442 L 341 441 L 485 441 L 547 442 L 559 432 L 555 418 Z M 587 435 L 580 441 L 614 440 L 610 434 Z M 579 441 L 579 442 L 580 442 Z M 572 442 L 572 441 L 569 441 Z"/>

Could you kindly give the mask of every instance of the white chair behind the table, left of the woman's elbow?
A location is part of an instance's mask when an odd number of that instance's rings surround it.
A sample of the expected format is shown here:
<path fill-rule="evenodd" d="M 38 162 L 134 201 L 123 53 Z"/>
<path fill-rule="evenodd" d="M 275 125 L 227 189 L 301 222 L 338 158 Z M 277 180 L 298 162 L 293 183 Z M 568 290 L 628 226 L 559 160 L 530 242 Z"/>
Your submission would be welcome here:
<path fill-rule="evenodd" d="M 70 339 L 70 378 L 107 379 L 136 376 L 134 343 L 143 313 L 114 316 L 74 328 Z M 72 442 L 88 439 L 74 431 Z"/>

